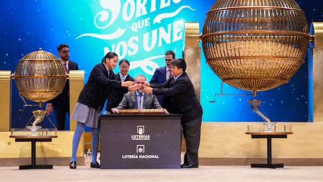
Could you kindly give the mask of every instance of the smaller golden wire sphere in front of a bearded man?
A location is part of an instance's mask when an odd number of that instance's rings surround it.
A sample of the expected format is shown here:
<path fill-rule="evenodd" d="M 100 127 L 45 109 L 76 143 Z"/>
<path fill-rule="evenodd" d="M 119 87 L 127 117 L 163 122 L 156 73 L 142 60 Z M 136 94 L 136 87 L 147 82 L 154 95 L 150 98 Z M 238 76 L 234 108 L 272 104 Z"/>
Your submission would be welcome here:
<path fill-rule="evenodd" d="M 62 92 L 67 75 L 55 55 L 39 49 L 19 60 L 12 77 L 19 93 L 31 101 L 42 103 Z"/>

